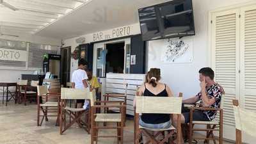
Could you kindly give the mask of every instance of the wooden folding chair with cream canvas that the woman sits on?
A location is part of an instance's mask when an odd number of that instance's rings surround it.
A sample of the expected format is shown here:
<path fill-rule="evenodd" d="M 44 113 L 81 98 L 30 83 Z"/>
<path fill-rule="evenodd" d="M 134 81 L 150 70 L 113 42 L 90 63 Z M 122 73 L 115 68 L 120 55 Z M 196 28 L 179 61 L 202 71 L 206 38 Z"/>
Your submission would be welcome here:
<path fill-rule="evenodd" d="M 149 141 L 143 141 L 143 143 L 153 143 L 153 144 L 163 144 L 165 142 L 173 142 L 170 141 L 177 130 L 177 140 L 180 144 L 180 114 L 181 114 L 181 105 L 182 105 L 182 93 L 179 93 L 179 97 L 145 97 L 145 96 L 136 96 L 136 113 L 135 113 L 135 122 L 134 124 L 134 136 L 135 136 L 135 144 L 139 144 L 140 135 L 145 134 Z M 162 113 L 162 114 L 176 114 L 178 118 L 177 129 L 172 125 L 167 129 L 150 129 L 147 127 L 142 127 L 139 125 L 139 115 L 142 113 Z M 154 131 L 156 134 L 152 136 L 149 131 Z M 166 136 L 164 136 L 163 140 L 156 140 L 159 134 L 167 132 Z"/>

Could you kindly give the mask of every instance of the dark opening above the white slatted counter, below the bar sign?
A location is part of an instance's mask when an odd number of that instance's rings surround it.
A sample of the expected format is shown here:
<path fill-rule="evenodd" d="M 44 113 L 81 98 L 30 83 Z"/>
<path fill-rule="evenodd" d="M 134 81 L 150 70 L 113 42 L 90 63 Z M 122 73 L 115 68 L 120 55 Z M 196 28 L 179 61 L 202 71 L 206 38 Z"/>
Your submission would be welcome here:
<path fill-rule="evenodd" d="M 124 74 L 124 45 L 125 42 L 106 44 L 106 74 Z"/>

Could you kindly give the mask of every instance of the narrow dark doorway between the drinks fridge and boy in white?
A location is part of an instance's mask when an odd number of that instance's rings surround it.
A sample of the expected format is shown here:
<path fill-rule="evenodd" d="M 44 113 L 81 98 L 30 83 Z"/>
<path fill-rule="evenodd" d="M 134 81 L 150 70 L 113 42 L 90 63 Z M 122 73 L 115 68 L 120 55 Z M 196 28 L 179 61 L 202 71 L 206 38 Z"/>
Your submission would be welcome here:
<path fill-rule="evenodd" d="M 61 47 L 61 85 L 67 86 L 67 82 L 70 82 L 70 58 L 71 47 Z"/>

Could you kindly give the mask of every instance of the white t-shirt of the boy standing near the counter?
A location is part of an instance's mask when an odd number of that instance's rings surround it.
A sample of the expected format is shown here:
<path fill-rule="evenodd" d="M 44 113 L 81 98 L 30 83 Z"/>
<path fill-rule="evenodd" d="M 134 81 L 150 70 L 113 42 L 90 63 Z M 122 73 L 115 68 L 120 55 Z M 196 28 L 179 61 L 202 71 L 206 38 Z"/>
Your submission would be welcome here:
<path fill-rule="evenodd" d="M 77 69 L 72 74 L 71 82 L 75 83 L 75 88 L 84 88 L 83 80 L 88 79 L 84 70 Z"/>

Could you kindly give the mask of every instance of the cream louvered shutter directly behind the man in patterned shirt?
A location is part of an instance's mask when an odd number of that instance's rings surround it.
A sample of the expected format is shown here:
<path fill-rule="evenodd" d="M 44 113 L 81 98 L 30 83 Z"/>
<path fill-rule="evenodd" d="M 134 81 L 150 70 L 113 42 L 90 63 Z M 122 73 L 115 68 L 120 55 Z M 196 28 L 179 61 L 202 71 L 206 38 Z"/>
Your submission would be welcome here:
<path fill-rule="evenodd" d="M 239 10 L 214 13 L 211 25 L 212 68 L 215 81 L 225 90 L 224 137 L 234 139 L 230 131 L 234 131 L 235 125 L 232 100 L 237 99 L 239 92 Z"/>

